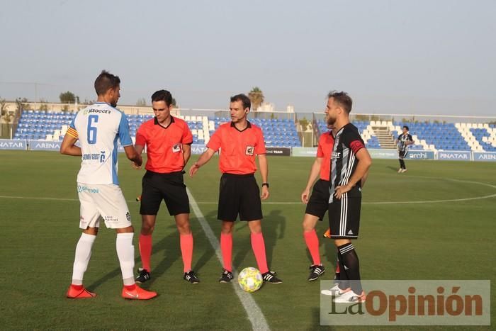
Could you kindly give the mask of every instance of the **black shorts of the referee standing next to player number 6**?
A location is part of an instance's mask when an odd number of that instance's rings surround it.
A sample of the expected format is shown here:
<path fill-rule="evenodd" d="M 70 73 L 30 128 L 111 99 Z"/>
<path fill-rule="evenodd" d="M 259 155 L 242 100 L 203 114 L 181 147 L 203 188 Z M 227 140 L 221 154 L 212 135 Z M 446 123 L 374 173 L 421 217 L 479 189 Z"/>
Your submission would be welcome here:
<path fill-rule="evenodd" d="M 157 215 L 162 200 L 171 216 L 189 213 L 189 198 L 183 172 L 159 174 L 147 170 L 142 179 L 141 215 Z"/>

